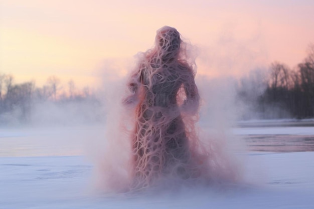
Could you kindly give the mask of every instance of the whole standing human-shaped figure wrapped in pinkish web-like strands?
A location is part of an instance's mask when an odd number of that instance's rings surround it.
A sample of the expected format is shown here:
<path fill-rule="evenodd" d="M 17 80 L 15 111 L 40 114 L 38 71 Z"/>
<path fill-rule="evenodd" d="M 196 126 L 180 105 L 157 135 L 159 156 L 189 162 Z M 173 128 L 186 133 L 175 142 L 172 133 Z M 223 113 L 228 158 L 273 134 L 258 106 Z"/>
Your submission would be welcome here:
<path fill-rule="evenodd" d="M 155 47 L 142 55 L 129 81 L 136 103 L 132 134 L 132 187 L 147 187 L 160 177 L 197 178 L 204 172 L 194 123 L 199 94 L 194 71 L 184 60 L 180 34 L 163 27 Z"/>

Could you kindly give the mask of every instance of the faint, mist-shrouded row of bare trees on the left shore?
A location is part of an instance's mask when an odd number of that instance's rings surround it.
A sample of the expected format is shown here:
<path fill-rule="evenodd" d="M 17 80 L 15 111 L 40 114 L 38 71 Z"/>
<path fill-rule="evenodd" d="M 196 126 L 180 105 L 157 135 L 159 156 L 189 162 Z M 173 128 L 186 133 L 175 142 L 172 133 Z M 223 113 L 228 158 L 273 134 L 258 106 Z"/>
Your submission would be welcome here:
<path fill-rule="evenodd" d="M 93 110 L 88 111 L 89 108 Z M 39 113 L 38 109 L 41 109 L 42 112 Z M 61 111 L 63 113 L 60 113 L 61 109 L 63 109 Z M 82 90 L 76 88 L 73 80 L 70 80 L 67 87 L 64 87 L 58 77 L 51 76 L 45 85 L 36 87 L 35 81 L 16 84 L 12 75 L 0 73 L 1 125 L 12 122 L 28 123 L 34 120 L 34 115 L 48 116 L 49 112 L 51 112 L 50 118 L 42 118 L 51 120 L 56 117 L 56 114 L 53 115 L 53 111 L 60 114 L 69 114 L 71 111 L 72 115 L 68 116 L 78 118 L 76 115 L 81 115 L 87 122 L 88 120 L 102 120 L 101 115 L 97 114 L 97 111 L 100 112 L 101 109 L 102 101 L 96 96 L 96 93 L 89 87 Z"/>

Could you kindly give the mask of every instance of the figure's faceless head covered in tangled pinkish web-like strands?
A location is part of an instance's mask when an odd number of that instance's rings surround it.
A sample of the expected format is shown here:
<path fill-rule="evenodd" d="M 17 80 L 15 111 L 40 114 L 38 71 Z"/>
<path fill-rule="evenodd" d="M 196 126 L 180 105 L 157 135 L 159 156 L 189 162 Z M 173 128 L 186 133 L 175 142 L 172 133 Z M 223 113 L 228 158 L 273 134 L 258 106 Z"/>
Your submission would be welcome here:
<path fill-rule="evenodd" d="M 155 39 L 156 47 L 164 61 L 173 61 L 179 54 L 181 39 L 177 29 L 164 26 L 159 29 Z"/>

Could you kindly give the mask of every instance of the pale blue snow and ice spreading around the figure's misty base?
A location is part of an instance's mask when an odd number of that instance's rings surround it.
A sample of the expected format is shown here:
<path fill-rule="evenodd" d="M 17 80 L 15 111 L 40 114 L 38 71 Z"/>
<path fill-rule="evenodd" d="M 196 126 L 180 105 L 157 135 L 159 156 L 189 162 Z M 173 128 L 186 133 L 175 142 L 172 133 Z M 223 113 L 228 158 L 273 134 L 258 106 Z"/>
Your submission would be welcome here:
<path fill-rule="evenodd" d="M 314 127 L 303 126 L 232 131 L 314 138 Z M 245 182 L 238 185 L 108 195 L 93 189 L 93 164 L 84 156 L 97 140 L 102 126 L 0 128 L 0 208 L 314 208 L 313 151 L 248 150 L 240 154 Z"/>

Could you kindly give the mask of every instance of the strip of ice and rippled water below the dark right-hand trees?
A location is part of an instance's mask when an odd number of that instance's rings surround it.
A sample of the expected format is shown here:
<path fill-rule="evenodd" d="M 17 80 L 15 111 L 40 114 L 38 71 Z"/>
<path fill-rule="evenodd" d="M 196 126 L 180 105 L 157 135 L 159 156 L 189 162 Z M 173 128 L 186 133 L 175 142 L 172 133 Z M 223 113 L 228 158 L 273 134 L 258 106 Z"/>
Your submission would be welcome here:
<path fill-rule="evenodd" d="M 240 122 L 235 135 L 246 141 L 251 151 L 314 151 L 314 120 L 272 120 Z"/>

